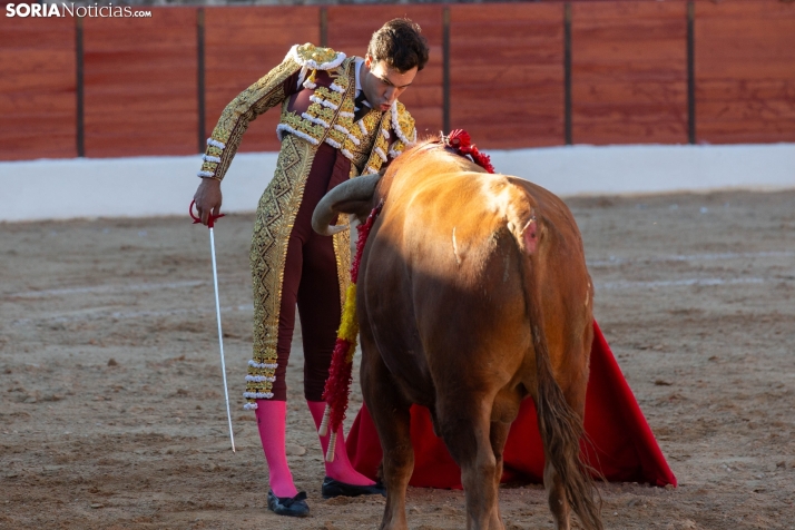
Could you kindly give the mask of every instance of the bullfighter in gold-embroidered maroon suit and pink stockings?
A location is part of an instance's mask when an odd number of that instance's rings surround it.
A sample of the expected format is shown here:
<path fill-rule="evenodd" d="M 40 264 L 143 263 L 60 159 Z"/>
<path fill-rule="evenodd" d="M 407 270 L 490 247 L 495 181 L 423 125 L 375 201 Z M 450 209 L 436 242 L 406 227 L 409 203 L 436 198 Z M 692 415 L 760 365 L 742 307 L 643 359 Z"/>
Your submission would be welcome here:
<path fill-rule="evenodd" d="M 297 304 L 304 342 L 304 395 L 316 425 L 325 409 L 341 307 L 349 282 L 349 233 L 333 238 L 312 230 L 317 202 L 349 178 L 377 173 L 416 140 L 414 120 L 398 97 L 428 61 L 420 27 L 386 22 L 372 36 L 364 58 L 330 48 L 294 46 L 284 61 L 229 102 L 210 138 L 195 195 L 204 224 L 222 204 L 220 181 L 248 124 L 282 107 L 276 129 L 282 147 L 273 180 L 257 207 L 251 247 L 254 353 L 246 375 L 268 467 L 268 509 L 308 516 L 285 455 L 286 383 Z M 321 436 L 325 453 L 328 438 Z M 340 435 L 340 434 L 337 434 Z M 325 498 L 383 493 L 351 465 L 344 443 L 325 463 Z"/>

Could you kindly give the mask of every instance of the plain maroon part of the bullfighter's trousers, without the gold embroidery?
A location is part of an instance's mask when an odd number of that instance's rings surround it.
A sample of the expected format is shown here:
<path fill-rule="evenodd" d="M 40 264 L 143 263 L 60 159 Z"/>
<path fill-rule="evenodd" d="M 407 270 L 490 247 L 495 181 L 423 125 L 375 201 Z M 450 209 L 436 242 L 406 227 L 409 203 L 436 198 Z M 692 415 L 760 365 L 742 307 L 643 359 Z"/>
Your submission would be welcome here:
<path fill-rule="evenodd" d="M 304 396 L 323 401 L 332 352 L 340 327 L 340 284 L 334 245 L 328 236 L 312 229 L 312 214 L 320 199 L 349 178 L 351 161 L 337 149 L 322 144 L 304 188 L 287 244 L 278 316 L 278 367 L 273 384 L 273 400 L 287 400 L 285 373 L 298 306 L 304 343 Z"/>

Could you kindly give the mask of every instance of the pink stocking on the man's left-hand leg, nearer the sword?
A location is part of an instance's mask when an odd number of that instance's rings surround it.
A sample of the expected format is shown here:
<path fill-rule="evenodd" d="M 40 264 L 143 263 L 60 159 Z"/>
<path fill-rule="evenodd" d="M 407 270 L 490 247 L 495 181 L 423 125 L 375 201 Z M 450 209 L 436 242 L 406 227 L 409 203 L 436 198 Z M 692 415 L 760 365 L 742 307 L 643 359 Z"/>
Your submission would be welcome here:
<path fill-rule="evenodd" d="M 267 460 L 268 482 L 276 497 L 295 497 L 298 490 L 293 484 L 293 473 L 287 467 L 284 438 L 287 423 L 287 402 L 257 400 L 255 410 L 259 440 Z"/>

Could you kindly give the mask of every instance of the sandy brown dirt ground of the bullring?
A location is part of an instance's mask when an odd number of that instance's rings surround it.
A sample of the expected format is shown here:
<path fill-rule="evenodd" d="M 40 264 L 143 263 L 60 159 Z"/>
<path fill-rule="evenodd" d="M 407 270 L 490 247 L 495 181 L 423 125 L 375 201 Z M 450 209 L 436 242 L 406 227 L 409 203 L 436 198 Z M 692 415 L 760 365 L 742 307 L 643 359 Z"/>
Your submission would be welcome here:
<path fill-rule="evenodd" d="M 606 527 L 794 529 L 795 192 L 568 203 L 597 320 L 680 484 L 601 485 Z M 312 517 L 266 509 L 242 398 L 251 226 L 216 228 L 233 454 L 205 228 L 0 224 L 0 528 L 376 527 L 382 499 L 321 498 L 300 332 L 287 442 Z M 502 488 L 500 502 L 508 529 L 552 528 L 539 485 Z M 463 528 L 463 493 L 411 489 L 409 526 Z"/>

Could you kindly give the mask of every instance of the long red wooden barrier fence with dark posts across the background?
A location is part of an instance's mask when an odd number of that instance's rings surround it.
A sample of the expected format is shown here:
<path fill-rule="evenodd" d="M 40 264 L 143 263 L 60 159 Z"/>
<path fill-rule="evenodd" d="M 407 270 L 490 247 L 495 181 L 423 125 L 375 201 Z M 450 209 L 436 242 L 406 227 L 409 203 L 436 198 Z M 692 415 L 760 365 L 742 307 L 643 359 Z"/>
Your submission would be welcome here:
<path fill-rule="evenodd" d="M 197 153 L 289 46 L 363 55 L 402 16 L 431 45 L 402 98 L 421 132 L 465 128 L 483 148 L 795 141 L 789 1 L 150 10 L 0 17 L 0 159 Z M 276 114 L 252 124 L 242 151 L 278 148 Z"/>

